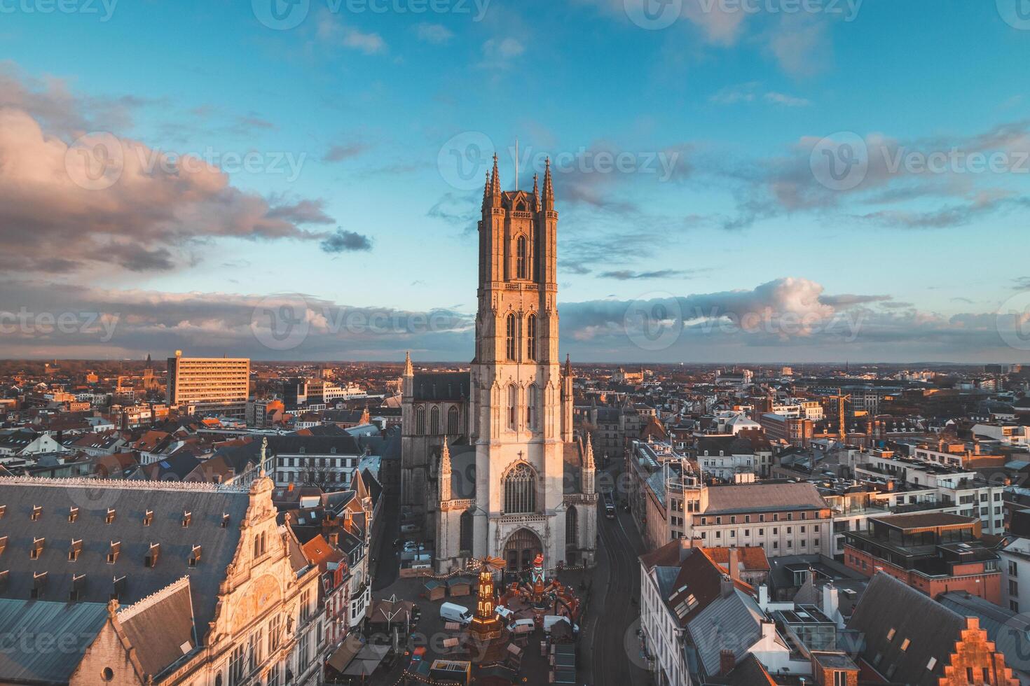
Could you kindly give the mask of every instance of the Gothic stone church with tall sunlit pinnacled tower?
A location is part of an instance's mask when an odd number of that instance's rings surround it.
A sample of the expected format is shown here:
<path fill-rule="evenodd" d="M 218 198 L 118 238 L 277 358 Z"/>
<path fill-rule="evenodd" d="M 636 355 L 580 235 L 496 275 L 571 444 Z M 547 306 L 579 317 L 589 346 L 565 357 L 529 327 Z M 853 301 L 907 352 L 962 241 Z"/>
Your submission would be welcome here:
<path fill-rule="evenodd" d="M 476 351 L 469 372 L 405 364 L 402 503 L 423 515 L 440 573 L 484 555 L 528 569 L 594 562 L 590 438 L 573 431 L 558 352 L 557 223 L 543 190 L 502 191 L 496 156 L 479 222 Z"/>

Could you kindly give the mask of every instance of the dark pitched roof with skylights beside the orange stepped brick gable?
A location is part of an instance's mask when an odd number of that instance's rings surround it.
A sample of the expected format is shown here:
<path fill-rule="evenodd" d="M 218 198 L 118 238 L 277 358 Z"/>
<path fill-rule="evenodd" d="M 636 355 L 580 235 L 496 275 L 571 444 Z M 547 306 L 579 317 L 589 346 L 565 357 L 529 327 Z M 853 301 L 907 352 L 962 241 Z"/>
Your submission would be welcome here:
<path fill-rule="evenodd" d="M 861 656 L 869 665 L 892 683 L 913 686 L 936 685 L 965 625 L 954 610 L 883 572 L 872 577 L 848 622 L 864 635 Z M 927 670 L 931 657 L 936 662 Z"/>

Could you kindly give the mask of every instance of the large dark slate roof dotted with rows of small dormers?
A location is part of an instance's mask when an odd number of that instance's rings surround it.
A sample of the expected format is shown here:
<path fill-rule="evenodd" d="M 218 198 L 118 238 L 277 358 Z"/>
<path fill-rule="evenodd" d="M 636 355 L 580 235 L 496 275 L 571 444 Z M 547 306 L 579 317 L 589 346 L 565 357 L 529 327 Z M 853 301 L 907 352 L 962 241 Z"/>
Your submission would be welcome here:
<path fill-rule="evenodd" d="M 113 580 L 125 577 L 118 600 L 131 605 L 188 576 L 203 637 L 214 616 L 226 567 L 236 553 L 240 521 L 249 502 L 245 489 L 204 483 L 0 478 L 0 505 L 6 506 L 0 517 L 0 537 L 8 539 L 0 567 L 8 570 L 9 577 L 0 588 L 0 598 L 28 600 L 33 573 L 46 572 L 41 600 L 66 603 L 72 575 L 84 574 L 79 601 L 107 603 Z M 34 506 L 42 508 L 36 520 L 31 518 Z M 72 507 L 79 508 L 78 515 L 69 521 Z M 110 523 L 106 523 L 108 508 L 114 509 Z M 148 527 L 143 526 L 146 510 L 153 512 Z M 184 511 L 191 513 L 187 528 L 182 527 Z M 225 529 L 224 513 L 229 514 Z M 40 538 L 44 539 L 42 552 L 38 559 L 31 559 L 30 548 Z M 82 542 L 75 562 L 68 561 L 72 539 Z M 112 541 L 121 542 L 121 551 L 108 564 Z M 153 568 L 144 566 L 150 543 L 161 545 Z M 202 556 L 191 568 L 187 561 L 194 545 L 202 546 Z"/>

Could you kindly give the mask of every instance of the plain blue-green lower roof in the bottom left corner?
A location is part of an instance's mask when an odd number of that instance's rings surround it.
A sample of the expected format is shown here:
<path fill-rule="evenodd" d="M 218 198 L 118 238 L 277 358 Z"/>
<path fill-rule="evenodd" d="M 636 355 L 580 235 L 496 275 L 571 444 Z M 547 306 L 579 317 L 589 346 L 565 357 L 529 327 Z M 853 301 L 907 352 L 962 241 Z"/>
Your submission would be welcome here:
<path fill-rule="evenodd" d="M 28 555 L 26 555 L 28 557 Z M 82 654 L 107 620 L 106 603 L 0 599 L 0 679 L 21 683 L 68 683 Z M 13 650 L 20 637 L 52 637 L 63 646 L 61 658 L 52 650 Z"/>

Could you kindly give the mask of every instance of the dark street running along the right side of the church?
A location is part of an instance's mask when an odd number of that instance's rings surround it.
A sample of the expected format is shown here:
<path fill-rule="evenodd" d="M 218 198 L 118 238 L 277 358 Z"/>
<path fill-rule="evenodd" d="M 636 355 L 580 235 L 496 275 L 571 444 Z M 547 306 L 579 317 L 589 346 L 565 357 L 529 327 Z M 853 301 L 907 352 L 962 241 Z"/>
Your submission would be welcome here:
<path fill-rule="evenodd" d="M 615 518 L 608 519 L 604 501 L 597 506 L 600 545 L 582 647 L 587 666 L 582 681 L 593 686 L 644 686 L 650 681 L 647 672 L 638 666 L 636 638 L 640 626 L 638 557 L 644 552 L 644 543 L 630 513 L 617 509 Z"/>

